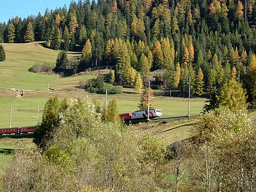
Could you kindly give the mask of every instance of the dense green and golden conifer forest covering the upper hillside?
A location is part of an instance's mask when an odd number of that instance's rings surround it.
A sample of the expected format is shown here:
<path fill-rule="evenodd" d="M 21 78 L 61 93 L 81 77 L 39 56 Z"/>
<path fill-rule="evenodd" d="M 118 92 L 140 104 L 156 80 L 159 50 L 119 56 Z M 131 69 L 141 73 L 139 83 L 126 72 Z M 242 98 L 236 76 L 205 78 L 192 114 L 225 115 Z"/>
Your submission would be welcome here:
<path fill-rule="evenodd" d="M 253 101 L 255 17 L 251 0 L 71 1 L 69 9 L 0 23 L 0 42 L 82 51 L 76 65 L 63 68 L 111 66 L 115 83 L 128 86 L 166 69 L 166 88 L 183 90 L 191 76 L 192 94 L 201 95 L 239 76 Z"/>

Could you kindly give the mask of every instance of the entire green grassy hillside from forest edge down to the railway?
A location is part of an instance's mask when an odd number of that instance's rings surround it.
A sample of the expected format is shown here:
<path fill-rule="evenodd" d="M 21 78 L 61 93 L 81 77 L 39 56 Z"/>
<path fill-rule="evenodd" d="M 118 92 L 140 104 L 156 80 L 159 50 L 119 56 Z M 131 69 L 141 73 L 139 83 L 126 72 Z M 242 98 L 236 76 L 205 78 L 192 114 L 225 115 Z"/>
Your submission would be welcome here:
<path fill-rule="evenodd" d="M 12 93 L 4 88 L 20 88 L 26 90 L 47 91 L 47 84 L 54 89 L 55 93 L 65 92 L 72 94 L 73 87 L 79 86 L 80 81 L 86 81 L 95 77 L 97 73 L 90 72 L 77 76 L 59 78 L 49 74 L 36 74 L 28 71 L 35 63 L 55 63 L 59 51 L 54 51 L 41 46 L 38 42 L 28 44 L 3 44 L 6 53 L 6 61 L 0 63 L 0 127 L 9 127 L 10 106 L 13 109 L 12 126 L 27 126 L 36 123 L 37 104 L 40 104 L 40 118 L 43 112 L 45 101 L 50 96 L 47 93 L 25 94 L 22 98 L 15 98 L 15 91 Z M 68 52 L 70 59 L 76 59 L 78 54 Z M 103 71 L 101 73 L 108 73 Z M 125 89 L 129 94 L 118 94 L 117 104 L 120 113 L 131 112 L 138 109 L 140 95 L 133 89 Z M 93 95 L 75 88 L 75 94 L 80 97 Z M 72 96 L 71 96 L 72 97 Z M 101 105 L 106 100 L 104 95 L 96 95 Z M 113 97 L 109 95 L 108 101 Z M 165 116 L 187 115 L 187 99 L 174 99 L 157 97 L 156 108 L 160 108 Z M 199 113 L 204 105 L 204 100 L 191 101 L 191 114 Z"/>

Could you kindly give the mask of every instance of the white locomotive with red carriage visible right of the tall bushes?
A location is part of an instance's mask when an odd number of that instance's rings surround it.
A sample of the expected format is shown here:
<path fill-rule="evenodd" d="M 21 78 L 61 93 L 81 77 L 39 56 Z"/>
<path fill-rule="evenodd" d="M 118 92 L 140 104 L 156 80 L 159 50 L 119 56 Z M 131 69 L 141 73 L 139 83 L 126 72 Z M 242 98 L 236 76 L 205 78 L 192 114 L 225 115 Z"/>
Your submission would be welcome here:
<path fill-rule="evenodd" d="M 148 119 L 148 110 L 140 110 L 129 113 L 121 113 L 119 114 L 120 118 L 124 121 L 130 120 L 139 120 L 139 119 Z M 162 116 L 161 109 L 149 109 L 149 119 L 152 118 L 160 118 Z"/>

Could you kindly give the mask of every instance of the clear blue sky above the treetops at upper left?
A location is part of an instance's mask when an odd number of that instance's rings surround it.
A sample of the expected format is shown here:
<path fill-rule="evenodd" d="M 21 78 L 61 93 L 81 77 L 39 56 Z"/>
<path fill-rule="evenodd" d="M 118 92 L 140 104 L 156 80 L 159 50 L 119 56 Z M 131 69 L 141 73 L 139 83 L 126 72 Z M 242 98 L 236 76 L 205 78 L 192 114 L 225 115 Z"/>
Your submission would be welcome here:
<path fill-rule="evenodd" d="M 63 7 L 69 8 L 71 0 L 1 0 L 0 1 L 0 23 L 8 22 L 9 19 L 15 17 L 26 18 L 28 15 L 36 15 L 40 12 L 44 15 L 45 9 Z M 76 1 L 77 2 L 77 1 Z"/>

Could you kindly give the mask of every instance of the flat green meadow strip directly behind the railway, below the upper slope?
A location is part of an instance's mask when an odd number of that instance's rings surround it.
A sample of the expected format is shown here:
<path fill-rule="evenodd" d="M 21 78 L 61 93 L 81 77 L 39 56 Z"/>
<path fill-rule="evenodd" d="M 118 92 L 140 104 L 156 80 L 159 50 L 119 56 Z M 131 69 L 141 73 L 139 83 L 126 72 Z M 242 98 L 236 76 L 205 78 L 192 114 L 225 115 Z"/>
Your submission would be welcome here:
<path fill-rule="evenodd" d="M 44 104 L 49 97 L 50 94 L 25 94 L 22 98 L 3 96 L 0 97 L 0 127 L 9 127 L 10 107 L 12 107 L 12 127 L 36 125 L 37 104 L 39 104 L 39 120 L 41 120 Z M 69 97 L 72 97 L 72 95 L 69 95 Z M 94 96 L 88 95 L 88 97 Z M 104 95 L 97 95 L 95 97 L 99 99 L 99 102 L 102 106 L 106 104 L 106 99 L 104 98 Z M 109 96 L 108 101 L 112 97 L 113 96 Z M 117 98 L 118 111 L 120 113 L 138 110 L 139 95 L 134 95 L 134 97 L 132 97 L 131 95 L 129 95 L 129 97 L 125 97 L 124 95 L 117 95 L 115 97 Z M 187 99 L 156 98 L 154 105 L 156 106 L 156 108 L 162 109 L 162 113 L 164 116 L 187 115 L 188 113 Z M 203 105 L 203 100 L 191 99 L 191 114 L 195 115 L 200 113 Z"/>

